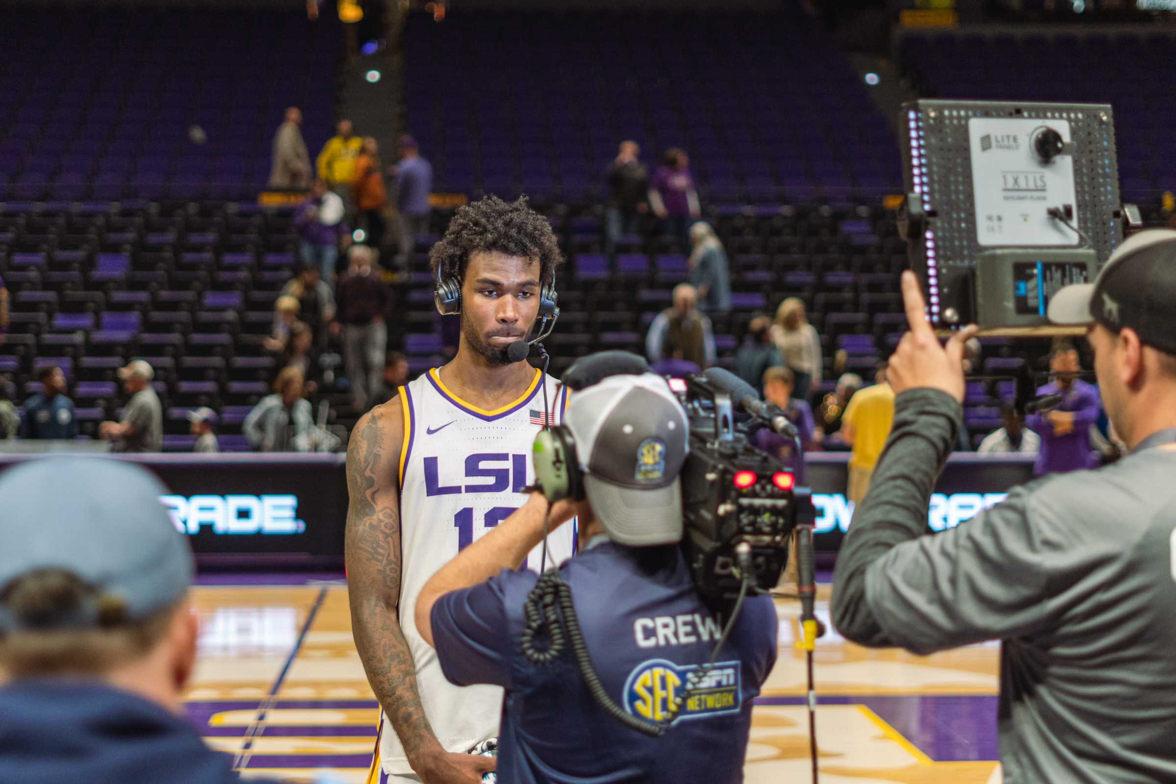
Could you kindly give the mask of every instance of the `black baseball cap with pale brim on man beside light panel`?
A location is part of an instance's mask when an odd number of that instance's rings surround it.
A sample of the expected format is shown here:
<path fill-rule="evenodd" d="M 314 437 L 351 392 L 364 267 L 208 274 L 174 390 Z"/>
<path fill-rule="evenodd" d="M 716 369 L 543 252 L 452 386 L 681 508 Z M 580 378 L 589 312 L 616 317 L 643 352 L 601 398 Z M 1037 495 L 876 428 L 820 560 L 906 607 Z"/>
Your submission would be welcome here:
<path fill-rule="evenodd" d="M 1176 354 L 1176 232 L 1132 235 L 1110 255 L 1094 283 L 1067 286 L 1054 295 L 1049 320 L 1097 322 L 1114 333 L 1130 327 L 1143 344 Z"/>

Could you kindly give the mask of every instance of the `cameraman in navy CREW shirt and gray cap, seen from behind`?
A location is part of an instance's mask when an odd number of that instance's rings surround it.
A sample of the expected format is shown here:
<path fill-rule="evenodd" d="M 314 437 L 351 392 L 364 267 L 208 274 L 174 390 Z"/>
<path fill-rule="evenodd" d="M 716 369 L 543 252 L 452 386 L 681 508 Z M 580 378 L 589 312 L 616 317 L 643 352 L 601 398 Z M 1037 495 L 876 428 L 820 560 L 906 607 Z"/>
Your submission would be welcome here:
<path fill-rule="evenodd" d="M 607 377 L 572 397 L 564 427 L 552 436 L 574 441 L 567 464 L 580 471 L 586 500 L 550 504 L 532 494 L 429 579 L 416 626 L 450 682 L 506 689 L 500 780 L 740 782 L 751 702 L 776 658 L 769 597 L 744 601 L 706 690 L 682 703 L 663 737 L 626 726 L 595 702 L 570 650 L 546 664 L 527 656 L 524 604 L 539 576 L 515 570 L 541 542 L 544 520 L 554 527 L 579 516 L 579 552 L 557 574 L 604 691 L 628 713 L 669 718 L 728 621 L 726 609 L 703 603 L 677 547 L 688 422 L 666 381 Z"/>

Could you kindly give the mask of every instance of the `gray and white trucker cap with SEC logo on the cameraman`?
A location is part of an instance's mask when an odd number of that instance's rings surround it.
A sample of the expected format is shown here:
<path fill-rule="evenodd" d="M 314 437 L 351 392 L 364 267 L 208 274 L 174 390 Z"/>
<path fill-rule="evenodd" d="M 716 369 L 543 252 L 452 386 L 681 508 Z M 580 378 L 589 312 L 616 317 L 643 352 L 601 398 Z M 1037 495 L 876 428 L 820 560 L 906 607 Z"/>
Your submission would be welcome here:
<path fill-rule="evenodd" d="M 584 491 L 609 538 L 628 547 L 682 540 L 679 473 L 689 423 L 669 384 L 652 373 L 604 378 L 572 396 L 564 423 Z"/>

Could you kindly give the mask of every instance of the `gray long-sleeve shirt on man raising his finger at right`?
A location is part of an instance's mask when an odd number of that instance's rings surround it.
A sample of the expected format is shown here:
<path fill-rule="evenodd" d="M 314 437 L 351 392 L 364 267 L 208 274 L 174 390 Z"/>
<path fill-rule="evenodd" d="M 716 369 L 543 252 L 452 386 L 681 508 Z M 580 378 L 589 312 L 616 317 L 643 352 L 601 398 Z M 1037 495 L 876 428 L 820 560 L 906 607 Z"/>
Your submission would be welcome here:
<path fill-rule="evenodd" d="M 927 535 L 961 407 L 914 389 L 834 576 L 848 639 L 916 654 L 1000 638 L 1007 784 L 1176 782 L 1176 433 Z"/>

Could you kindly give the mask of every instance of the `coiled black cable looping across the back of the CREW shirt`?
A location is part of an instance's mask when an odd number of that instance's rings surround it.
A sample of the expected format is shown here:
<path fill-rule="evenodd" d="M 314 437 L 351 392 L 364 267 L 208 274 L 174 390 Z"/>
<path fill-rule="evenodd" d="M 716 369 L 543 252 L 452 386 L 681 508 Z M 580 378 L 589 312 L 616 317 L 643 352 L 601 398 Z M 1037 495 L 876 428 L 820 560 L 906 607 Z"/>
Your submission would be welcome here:
<path fill-rule="evenodd" d="M 535 583 L 530 594 L 527 595 L 527 602 L 523 604 L 523 616 L 527 623 L 520 638 L 522 655 L 532 664 L 550 664 L 563 655 L 568 642 L 570 642 L 572 655 L 575 657 L 576 665 L 580 669 L 580 677 L 588 688 L 588 693 L 596 701 L 596 704 L 626 726 L 643 735 L 660 738 L 677 718 L 679 711 L 682 710 L 682 705 L 690 697 L 695 686 L 714 669 L 715 662 L 719 659 L 719 651 L 722 650 L 727 637 L 735 626 L 735 618 L 739 617 L 750 584 L 751 572 L 750 570 L 744 570 L 743 584 L 740 587 L 739 598 L 731 608 L 731 615 L 727 619 L 723 632 L 719 636 L 719 642 L 715 644 L 710 661 L 687 676 L 686 688 L 675 697 L 669 715 L 659 722 L 650 722 L 633 716 L 608 696 L 604 684 L 600 682 L 596 669 L 592 664 L 588 646 L 584 644 L 583 635 L 580 631 L 580 621 L 576 618 L 576 609 L 572 603 L 572 588 L 563 582 L 559 571 L 554 569 L 540 576 L 539 582 Z M 547 636 L 547 645 L 546 648 L 539 648 L 535 644 L 536 637 L 544 634 Z"/>

